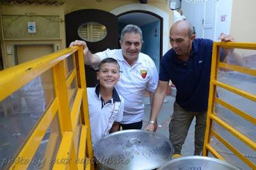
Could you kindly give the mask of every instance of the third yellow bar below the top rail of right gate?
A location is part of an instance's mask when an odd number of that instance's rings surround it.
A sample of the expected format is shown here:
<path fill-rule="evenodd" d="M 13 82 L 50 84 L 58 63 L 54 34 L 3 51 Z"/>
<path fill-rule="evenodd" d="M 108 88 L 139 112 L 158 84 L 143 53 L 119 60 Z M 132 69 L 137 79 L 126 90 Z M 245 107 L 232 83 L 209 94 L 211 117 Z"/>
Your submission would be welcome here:
<path fill-rule="evenodd" d="M 218 102 L 218 104 L 223 105 L 224 107 L 226 107 L 227 109 L 229 109 L 230 111 L 238 114 L 239 116 L 241 116 L 242 118 L 244 118 L 247 121 L 252 122 L 253 124 L 256 124 L 256 118 L 251 116 L 250 114 L 247 114 L 246 112 L 243 112 L 239 109 L 237 109 L 236 107 L 228 104 L 227 102 L 224 102 L 223 100 L 221 100 L 220 98 L 216 98 L 215 99 L 216 102 Z"/>

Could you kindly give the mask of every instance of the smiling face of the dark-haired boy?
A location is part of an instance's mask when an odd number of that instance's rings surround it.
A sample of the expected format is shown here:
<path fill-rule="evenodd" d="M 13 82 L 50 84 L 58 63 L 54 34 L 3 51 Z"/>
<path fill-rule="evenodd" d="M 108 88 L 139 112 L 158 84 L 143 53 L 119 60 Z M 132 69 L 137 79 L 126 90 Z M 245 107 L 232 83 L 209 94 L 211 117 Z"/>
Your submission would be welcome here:
<path fill-rule="evenodd" d="M 104 63 L 97 72 L 97 80 L 104 88 L 113 88 L 119 80 L 119 69 L 115 63 Z"/>

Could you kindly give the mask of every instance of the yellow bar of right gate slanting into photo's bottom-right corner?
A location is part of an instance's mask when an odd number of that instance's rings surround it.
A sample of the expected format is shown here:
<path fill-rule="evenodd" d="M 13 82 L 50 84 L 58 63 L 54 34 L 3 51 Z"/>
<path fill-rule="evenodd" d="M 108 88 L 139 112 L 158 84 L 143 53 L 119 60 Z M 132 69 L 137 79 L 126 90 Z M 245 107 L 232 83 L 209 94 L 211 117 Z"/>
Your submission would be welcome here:
<path fill-rule="evenodd" d="M 244 163 L 246 163 L 248 166 L 252 167 L 252 169 L 256 169 L 255 164 L 253 164 L 252 161 L 250 161 L 248 158 L 244 157 L 244 155 L 239 152 L 238 150 L 236 150 L 236 148 L 234 148 L 231 144 L 229 144 L 225 139 L 223 139 L 223 137 L 221 137 L 221 135 L 219 135 L 218 133 L 216 133 L 214 130 L 212 130 L 212 135 L 214 135 L 221 143 L 223 143 L 230 151 L 232 151 L 233 153 L 235 153 L 237 155 L 237 157 L 239 157 L 241 160 L 243 160 Z"/>

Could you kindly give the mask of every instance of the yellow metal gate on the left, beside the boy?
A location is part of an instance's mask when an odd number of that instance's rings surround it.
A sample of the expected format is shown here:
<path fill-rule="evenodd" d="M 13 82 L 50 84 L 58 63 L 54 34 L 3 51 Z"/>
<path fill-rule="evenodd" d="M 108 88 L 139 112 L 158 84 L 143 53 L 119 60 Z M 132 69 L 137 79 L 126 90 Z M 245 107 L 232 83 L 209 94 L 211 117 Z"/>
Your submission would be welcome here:
<path fill-rule="evenodd" d="M 0 169 L 94 169 L 81 47 L 0 72 L 0 114 Z"/>

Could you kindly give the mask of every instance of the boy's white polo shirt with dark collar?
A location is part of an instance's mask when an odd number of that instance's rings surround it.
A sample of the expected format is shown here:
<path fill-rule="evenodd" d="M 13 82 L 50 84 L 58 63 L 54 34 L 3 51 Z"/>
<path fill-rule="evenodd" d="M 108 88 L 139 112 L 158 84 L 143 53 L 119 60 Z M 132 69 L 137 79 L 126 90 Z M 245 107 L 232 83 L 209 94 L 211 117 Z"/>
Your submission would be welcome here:
<path fill-rule="evenodd" d="M 87 88 L 88 107 L 90 115 L 90 127 L 92 145 L 109 134 L 114 121 L 120 122 L 124 112 L 124 98 L 113 89 L 113 98 L 106 104 L 102 104 L 99 93 L 99 84 L 95 88 Z M 103 105 L 103 106 L 102 106 Z"/>

